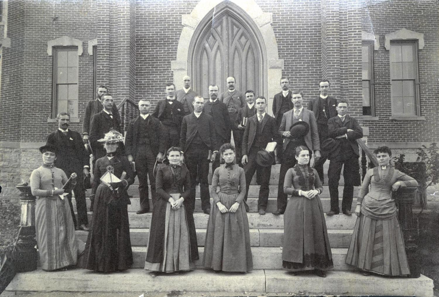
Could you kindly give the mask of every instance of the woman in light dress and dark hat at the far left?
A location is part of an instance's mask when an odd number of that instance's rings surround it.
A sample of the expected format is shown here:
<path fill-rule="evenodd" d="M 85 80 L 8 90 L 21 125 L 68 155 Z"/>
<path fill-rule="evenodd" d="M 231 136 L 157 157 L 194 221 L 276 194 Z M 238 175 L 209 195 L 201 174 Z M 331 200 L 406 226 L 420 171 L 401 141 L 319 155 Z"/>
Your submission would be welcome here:
<path fill-rule="evenodd" d="M 30 187 L 36 196 L 35 230 L 38 253 L 43 270 L 65 270 L 75 265 L 78 256 L 78 242 L 75 236 L 72 214 L 63 193 L 70 192 L 76 185 L 76 173 L 68 181 L 64 171 L 54 166 L 57 149 L 51 144 L 40 147 L 43 165 L 32 171 Z"/>

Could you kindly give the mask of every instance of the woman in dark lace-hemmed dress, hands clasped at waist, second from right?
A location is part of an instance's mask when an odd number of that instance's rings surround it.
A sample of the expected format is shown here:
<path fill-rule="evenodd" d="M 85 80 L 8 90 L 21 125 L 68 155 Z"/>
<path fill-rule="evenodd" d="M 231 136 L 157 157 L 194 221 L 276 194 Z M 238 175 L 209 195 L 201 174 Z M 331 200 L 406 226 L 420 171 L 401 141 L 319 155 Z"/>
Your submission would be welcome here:
<path fill-rule="evenodd" d="M 320 277 L 332 268 L 322 203 L 317 196 L 323 187 L 316 169 L 310 168 L 309 151 L 299 146 L 295 150 L 297 165 L 288 169 L 284 193 L 291 195 L 284 212 L 284 245 L 282 267 L 293 275 L 303 270 L 314 270 Z"/>

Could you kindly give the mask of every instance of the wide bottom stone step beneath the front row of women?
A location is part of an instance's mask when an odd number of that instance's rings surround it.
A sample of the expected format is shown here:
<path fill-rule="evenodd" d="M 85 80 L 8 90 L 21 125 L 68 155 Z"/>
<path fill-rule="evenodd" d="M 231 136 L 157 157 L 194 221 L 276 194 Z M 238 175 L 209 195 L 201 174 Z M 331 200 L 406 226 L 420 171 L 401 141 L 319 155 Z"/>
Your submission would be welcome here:
<path fill-rule="evenodd" d="M 139 296 L 148 292 L 169 294 L 170 291 L 177 291 L 183 296 L 186 292 L 200 292 L 189 296 L 200 296 L 201 292 L 227 292 L 233 295 L 256 296 L 262 293 L 292 293 L 433 297 L 433 281 L 426 276 L 417 279 L 403 277 L 389 279 L 334 270 L 328 271 L 326 278 L 320 278 L 309 272 L 291 276 L 290 273 L 279 269 L 255 269 L 246 274 L 214 273 L 210 270 L 196 269 L 178 275 L 159 275 L 152 278 L 141 268 L 110 275 L 77 268 L 65 272 L 36 270 L 17 273 L 4 294 L 13 293 L 11 291 L 108 292 L 110 293 L 108 296 L 115 296 L 118 292 L 133 292 L 133 296 Z"/>

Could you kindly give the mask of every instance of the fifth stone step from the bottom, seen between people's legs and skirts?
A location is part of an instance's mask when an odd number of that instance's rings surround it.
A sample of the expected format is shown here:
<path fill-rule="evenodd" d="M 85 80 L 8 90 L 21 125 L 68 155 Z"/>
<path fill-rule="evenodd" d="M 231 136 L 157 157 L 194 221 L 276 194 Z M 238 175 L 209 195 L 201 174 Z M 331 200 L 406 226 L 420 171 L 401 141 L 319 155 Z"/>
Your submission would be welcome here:
<path fill-rule="evenodd" d="M 131 204 L 128 204 L 128 211 L 129 212 L 135 212 L 140 208 L 140 198 L 139 197 L 132 197 Z M 331 200 L 330 198 L 320 198 L 320 201 L 322 203 L 323 211 L 327 212 L 331 209 Z M 213 199 L 210 199 L 210 203 L 213 203 Z M 76 200 L 75 198 L 72 199 L 73 209 L 76 211 Z M 90 199 L 86 198 L 86 204 L 87 204 L 87 210 L 90 210 Z M 255 197 L 248 197 L 247 199 L 247 205 L 250 208 L 249 212 L 257 212 L 258 211 L 258 198 Z M 356 206 L 356 199 L 352 201 L 352 207 L 351 209 L 354 210 Z M 152 211 L 152 198 L 149 198 L 149 209 Z M 342 199 L 338 199 L 338 207 L 340 210 L 342 209 Z M 266 212 L 273 212 L 277 210 L 277 198 L 276 197 L 270 197 L 268 198 L 267 202 L 267 208 Z M 201 198 L 197 197 L 195 198 L 195 212 L 202 212 L 201 208 Z"/>

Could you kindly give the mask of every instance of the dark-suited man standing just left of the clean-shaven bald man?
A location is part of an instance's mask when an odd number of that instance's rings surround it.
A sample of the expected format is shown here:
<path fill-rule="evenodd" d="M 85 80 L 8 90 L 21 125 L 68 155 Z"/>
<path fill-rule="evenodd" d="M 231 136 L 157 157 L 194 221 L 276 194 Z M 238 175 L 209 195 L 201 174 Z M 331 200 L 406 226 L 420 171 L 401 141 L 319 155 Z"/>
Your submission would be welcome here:
<path fill-rule="evenodd" d="M 175 85 L 166 84 L 166 99 L 159 101 L 152 116 L 162 123 L 163 132 L 166 134 L 166 150 L 169 147 L 177 147 L 180 141 L 181 121 L 184 117 L 184 107 L 175 100 Z"/>

